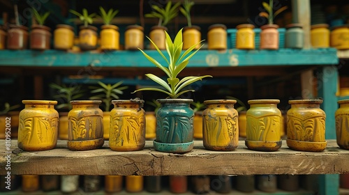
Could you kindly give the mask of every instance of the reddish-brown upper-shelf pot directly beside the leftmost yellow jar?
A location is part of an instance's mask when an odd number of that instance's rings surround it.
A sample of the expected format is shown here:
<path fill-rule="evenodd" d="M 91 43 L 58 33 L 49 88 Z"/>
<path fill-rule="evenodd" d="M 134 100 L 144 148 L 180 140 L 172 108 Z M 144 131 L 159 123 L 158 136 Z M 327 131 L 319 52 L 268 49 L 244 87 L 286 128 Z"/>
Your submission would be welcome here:
<path fill-rule="evenodd" d="M 30 32 L 30 49 L 50 49 L 51 29 L 47 26 L 33 24 Z"/>

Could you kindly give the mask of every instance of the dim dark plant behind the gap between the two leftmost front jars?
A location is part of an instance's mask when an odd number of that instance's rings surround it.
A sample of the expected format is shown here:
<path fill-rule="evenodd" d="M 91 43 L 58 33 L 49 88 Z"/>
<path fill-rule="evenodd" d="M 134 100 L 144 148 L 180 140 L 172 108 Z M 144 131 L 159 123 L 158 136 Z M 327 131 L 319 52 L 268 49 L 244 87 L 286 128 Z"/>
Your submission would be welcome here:
<path fill-rule="evenodd" d="M 82 90 L 80 85 L 76 86 L 66 86 L 58 85 L 58 84 L 50 84 L 51 88 L 57 89 L 57 94 L 53 95 L 53 98 L 56 99 L 63 99 L 64 103 L 58 104 L 57 109 L 72 109 L 72 105 L 70 104 L 70 101 L 77 100 L 78 98 L 81 98 L 84 96 L 84 91 Z"/>

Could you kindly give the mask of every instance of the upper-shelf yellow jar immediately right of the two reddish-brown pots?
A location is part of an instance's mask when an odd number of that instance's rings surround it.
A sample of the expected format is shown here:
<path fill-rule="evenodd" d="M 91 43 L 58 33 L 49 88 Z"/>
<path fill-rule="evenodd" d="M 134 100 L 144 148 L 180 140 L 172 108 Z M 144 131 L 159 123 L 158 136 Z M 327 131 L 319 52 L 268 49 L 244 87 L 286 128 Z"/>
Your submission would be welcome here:
<path fill-rule="evenodd" d="M 53 33 L 54 49 L 71 49 L 74 44 L 73 26 L 58 24 Z"/>

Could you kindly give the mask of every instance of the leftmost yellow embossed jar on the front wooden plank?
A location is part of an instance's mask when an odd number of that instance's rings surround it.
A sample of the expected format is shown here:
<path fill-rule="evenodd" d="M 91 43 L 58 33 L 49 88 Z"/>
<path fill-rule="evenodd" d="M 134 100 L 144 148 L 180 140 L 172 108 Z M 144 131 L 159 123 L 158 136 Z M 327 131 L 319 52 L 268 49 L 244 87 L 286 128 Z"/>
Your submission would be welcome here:
<path fill-rule="evenodd" d="M 18 148 L 24 151 L 50 150 L 57 144 L 59 114 L 57 101 L 22 100 Z"/>

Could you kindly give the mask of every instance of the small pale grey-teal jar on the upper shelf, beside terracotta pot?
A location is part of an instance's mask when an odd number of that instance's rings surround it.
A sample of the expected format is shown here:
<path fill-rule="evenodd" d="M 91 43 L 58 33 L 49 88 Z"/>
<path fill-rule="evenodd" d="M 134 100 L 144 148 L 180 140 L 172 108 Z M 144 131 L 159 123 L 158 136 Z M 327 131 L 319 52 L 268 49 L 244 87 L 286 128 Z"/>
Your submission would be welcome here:
<path fill-rule="evenodd" d="M 302 49 L 304 30 L 302 24 L 288 24 L 285 32 L 285 48 Z"/>

